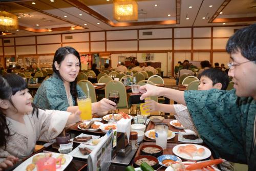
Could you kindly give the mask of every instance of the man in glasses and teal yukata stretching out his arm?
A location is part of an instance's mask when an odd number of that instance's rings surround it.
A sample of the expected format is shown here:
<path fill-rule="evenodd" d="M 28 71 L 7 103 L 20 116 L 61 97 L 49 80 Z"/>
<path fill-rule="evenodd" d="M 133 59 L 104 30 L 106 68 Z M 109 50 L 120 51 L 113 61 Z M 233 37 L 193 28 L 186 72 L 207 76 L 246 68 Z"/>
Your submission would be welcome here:
<path fill-rule="evenodd" d="M 226 45 L 228 75 L 234 89 L 178 91 L 146 84 L 147 96 L 165 96 L 187 106 L 198 134 L 216 158 L 248 164 L 256 170 L 256 24 L 238 30 Z"/>

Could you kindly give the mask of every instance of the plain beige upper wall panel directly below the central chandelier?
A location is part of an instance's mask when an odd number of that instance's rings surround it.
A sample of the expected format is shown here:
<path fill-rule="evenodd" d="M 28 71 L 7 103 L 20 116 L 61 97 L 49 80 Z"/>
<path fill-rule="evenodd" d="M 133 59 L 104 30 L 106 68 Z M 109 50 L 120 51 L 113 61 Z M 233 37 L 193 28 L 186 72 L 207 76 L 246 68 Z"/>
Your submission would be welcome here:
<path fill-rule="evenodd" d="M 137 39 L 137 30 L 107 31 L 106 40 Z"/>

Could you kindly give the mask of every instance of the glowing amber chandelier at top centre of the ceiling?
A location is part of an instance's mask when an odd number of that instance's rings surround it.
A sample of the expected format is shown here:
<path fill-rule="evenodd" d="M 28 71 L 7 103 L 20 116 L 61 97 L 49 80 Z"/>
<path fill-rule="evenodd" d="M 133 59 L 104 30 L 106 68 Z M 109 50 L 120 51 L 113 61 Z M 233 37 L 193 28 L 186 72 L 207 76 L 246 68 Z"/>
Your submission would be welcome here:
<path fill-rule="evenodd" d="M 114 0 L 113 12 L 118 21 L 138 20 L 138 4 L 135 0 Z"/>

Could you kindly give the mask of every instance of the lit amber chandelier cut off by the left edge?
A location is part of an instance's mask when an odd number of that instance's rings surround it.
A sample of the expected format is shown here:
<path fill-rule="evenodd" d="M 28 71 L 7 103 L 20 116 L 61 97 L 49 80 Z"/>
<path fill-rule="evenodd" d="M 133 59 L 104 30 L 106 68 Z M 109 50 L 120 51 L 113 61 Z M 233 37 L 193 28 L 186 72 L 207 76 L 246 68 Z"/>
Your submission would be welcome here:
<path fill-rule="evenodd" d="M 17 16 L 6 11 L 0 11 L 0 30 L 14 30 L 17 28 Z"/>

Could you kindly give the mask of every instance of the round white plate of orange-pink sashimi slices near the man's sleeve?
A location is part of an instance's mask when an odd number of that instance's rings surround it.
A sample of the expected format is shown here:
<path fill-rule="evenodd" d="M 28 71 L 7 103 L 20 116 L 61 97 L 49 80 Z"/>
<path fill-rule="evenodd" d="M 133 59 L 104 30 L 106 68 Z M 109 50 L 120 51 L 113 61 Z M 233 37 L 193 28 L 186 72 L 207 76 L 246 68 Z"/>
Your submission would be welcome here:
<path fill-rule="evenodd" d="M 179 144 L 173 148 L 176 156 L 188 161 L 198 161 L 210 157 L 211 152 L 208 148 L 198 144 Z"/>

